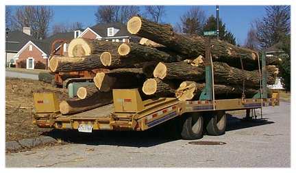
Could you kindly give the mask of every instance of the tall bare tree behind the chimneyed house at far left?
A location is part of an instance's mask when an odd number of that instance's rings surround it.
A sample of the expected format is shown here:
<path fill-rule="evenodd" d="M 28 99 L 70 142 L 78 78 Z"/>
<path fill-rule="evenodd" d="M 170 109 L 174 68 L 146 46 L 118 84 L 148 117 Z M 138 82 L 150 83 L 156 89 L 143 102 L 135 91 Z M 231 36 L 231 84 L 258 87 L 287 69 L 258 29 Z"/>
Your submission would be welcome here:
<path fill-rule="evenodd" d="M 30 27 L 31 34 L 40 40 L 47 37 L 53 10 L 47 6 L 22 6 L 16 9 L 14 28 Z"/>

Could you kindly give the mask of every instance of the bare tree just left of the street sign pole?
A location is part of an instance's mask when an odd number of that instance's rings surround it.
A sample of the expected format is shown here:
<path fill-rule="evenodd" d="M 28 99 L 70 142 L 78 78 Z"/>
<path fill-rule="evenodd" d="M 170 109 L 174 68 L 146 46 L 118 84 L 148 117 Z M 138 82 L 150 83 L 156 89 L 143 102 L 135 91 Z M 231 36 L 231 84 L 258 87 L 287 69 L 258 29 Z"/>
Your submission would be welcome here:
<path fill-rule="evenodd" d="M 206 23 L 206 12 L 199 6 L 193 6 L 180 16 L 180 20 L 185 34 L 200 34 Z"/>

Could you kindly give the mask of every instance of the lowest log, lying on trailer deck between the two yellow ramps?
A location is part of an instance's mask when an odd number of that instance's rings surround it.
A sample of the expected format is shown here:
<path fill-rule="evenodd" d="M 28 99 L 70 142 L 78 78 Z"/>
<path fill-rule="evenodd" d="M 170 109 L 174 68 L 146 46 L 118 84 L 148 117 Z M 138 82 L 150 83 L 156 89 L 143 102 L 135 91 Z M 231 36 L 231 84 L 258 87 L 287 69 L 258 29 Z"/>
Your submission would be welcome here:
<path fill-rule="evenodd" d="M 61 114 L 75 114 L 82 111 L 87 111 L 108 105 L 113 102 L 112 91 L 110 92 L 95 92 L 93 95 L 77 101 L 62 101 L 60 103 Z"/>

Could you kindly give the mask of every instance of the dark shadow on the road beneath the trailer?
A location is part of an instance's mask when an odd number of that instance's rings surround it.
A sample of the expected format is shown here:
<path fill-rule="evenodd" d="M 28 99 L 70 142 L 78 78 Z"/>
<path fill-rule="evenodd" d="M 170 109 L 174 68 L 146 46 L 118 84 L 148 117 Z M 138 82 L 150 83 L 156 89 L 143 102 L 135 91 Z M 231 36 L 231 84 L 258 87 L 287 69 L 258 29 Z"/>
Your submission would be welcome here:
<path fill-rule="evenodd" d="M 226 131 L 235 131 L 237 129 L 272 123 L 274 122 L 270 122 L 268 119 L 247 122 L 227 114 Z M 147 131 L 93 131 L 93 133 L 53 129 L 43 135 L 75 144 L 150 147 L 177 140 L 177 138 L 171 137 L 170 130 L 167 126 L 154 127 Z"/>

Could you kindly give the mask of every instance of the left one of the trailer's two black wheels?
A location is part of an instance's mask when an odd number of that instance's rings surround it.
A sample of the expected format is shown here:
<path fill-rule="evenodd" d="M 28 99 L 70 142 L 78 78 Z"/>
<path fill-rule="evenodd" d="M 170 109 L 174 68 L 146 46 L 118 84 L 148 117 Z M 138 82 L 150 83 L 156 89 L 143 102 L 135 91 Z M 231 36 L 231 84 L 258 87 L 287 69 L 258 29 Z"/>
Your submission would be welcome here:
<path fill-rule="evenodd" d="M 181 135 L 183 139 L 199 139 L 203 135 L 204 118 L 199 113 L 191 113 L 182 120 Z"/>

